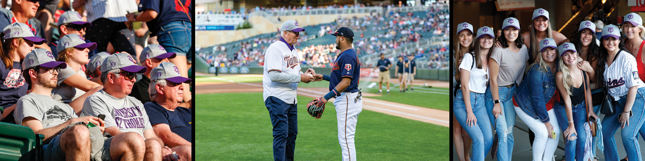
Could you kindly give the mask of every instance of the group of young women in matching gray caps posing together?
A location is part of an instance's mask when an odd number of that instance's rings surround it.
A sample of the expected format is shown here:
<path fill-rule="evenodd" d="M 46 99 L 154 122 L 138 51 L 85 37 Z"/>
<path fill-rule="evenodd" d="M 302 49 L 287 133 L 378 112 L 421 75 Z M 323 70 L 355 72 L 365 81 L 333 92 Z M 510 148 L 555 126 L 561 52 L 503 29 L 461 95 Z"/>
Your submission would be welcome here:
<path fill-rule="evenodd" d="M 453 50 L 459 160 L 484 160 L 489 151 L 511 160 L 516 116 L 535 133 L 533 160 L 552 160 L 560 138 L 565 160 L 595 160 L 596 148 L 605 160 L 642 160 L 637 135 L 645 124 L 645 76 L 639 75 L 645 73 L 645 27 L 638 14 L 624 19 L 620 27 L 604 26 L 599 38 L 591 21 L 582 21 L 570 38 L 553 31 L 542 8 L 524 33 L 513 17 L 504 19 L 499 37 L 488 26 L 474 33 L 471 24 L 459 24 Z M 600 119 L 592 100 L 608 102 L 613 107 L 602 110 L 615 112 Z M 613 137 L 619 129 L 627 152 L 622 159 Z"/>

